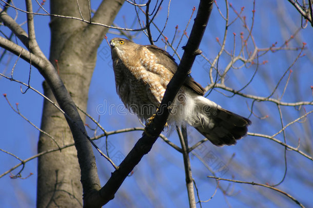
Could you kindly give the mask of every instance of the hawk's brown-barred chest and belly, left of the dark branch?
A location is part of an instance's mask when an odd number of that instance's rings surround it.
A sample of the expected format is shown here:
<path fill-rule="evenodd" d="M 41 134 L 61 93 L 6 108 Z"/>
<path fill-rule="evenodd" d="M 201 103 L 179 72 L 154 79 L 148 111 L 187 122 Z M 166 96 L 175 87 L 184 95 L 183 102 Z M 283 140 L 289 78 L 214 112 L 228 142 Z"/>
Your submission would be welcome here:
<path fill-rule="evenodd" d="M 133 46 L 128 53 L 115 54 L 112 50 L 112 57 L 116 91 L 124 105 L 140 118 L 150 118 L 161 104 L 173 73 L 144 46 Z"/>

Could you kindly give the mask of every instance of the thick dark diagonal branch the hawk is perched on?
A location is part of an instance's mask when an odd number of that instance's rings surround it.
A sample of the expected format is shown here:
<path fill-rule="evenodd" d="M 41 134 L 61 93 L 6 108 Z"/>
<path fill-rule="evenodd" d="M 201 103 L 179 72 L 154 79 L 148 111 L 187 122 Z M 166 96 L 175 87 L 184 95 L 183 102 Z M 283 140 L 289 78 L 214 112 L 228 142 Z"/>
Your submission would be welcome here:
<path fill-rule="evenodd" d="M 201 53 L 199 45 L 209 20 L 212 5 L 212 0 L 200 1 L 199 10 L 197 17 L 194 19 L 190 38 L 184 47 L 185 52 L 182 61 L 178 66 L 177 72 L 167 85 L 167 89 L 157 114 L 151 124 L 146 128 L 146 131 L 144 131 L 143 137 L 134 145 L 129 154 L 120 164 L 119 168 L 111 174 L 110 179 L 101 190 L 88 196 L 84 196 L 85 207 L 100 207 L 112 200 L 116 191 L 118 191 L 134 166 L 140 162 L 142 157 L 150 151 L 154 142 L 157 141 L 170 114 L 171 109 L 169 106 L 173 102 L 180 87 L 187 79 L 195 56 Z"/>

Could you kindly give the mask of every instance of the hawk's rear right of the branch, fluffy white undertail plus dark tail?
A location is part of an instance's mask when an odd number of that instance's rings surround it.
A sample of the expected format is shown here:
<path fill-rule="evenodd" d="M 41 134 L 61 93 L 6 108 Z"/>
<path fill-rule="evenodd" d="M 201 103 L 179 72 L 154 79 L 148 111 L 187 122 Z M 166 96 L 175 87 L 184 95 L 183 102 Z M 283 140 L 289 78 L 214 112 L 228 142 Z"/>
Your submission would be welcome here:
<path fill-rule="evenodd" d="M 251 121 L 183 87 L 175 98 L 169 122 L 185 122 L 213 144 L 232 145 L 247 134 Z"/>

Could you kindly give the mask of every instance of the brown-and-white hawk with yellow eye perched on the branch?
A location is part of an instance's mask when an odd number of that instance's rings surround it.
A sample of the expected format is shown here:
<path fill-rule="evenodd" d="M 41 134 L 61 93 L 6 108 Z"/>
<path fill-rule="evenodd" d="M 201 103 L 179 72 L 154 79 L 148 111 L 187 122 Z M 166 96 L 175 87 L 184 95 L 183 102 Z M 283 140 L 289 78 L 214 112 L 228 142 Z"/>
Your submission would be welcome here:
<path fill-rule="evenodd" d="M 140 119 L 160 106 L 177 63 L 165 50 L 115 37 L 110 41 L 115 86 L 122 102 Z M 204 88 L 188 77 L 171 105 L 169 123 L 187 123 L 214 145 L 232 145 L 247 134 L 249 119 L 203 97 Z"/>

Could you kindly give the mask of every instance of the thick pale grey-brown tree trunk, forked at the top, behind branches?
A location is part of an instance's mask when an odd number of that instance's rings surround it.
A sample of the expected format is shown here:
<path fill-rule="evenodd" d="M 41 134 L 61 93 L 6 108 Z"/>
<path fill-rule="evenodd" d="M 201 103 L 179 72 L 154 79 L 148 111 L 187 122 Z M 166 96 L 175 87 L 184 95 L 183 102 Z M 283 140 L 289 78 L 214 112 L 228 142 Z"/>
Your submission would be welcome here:
<path fill-rule="evenodd" d="M 90 20 L 87 0 L 80 0 L 79 8 L 84 20 Z M 94 14 L 93 21 L 111 25 L 123 1 L 103 2 Z M 51 13 L 81 18 L 75 0 L 51 1 Z M 89 85 L 95 66 L 96 51 L 107 28 L 88 25 L 77 20 L 51 17 L 50 62 L 60 72 L 73 101 L 86 110 Z M 44 83 L 45 95 L 55 102 L 52 91 Z M 81 114 L 85 122 L 85 116 Z M 68 123 L 60 111 L 44 101 L 41 128 L 52 135 L 58 145 L 73 143 Z M 87 138 L 86 138 L 87 139 Z M 38 153 L 57 147 L 47 136 L 41 134 Z M 90 161 L 94 163 L 94 161 Z M 94 168 L 96 168 L 94 164 Z M 81 207 L 83 189 L 81 169 L 75 147 L 38 158 L 37 207 Z M 99 180 L 99 179 L 98 179 Z M 100 183 L 99 188 L 100 188 Z"/>

